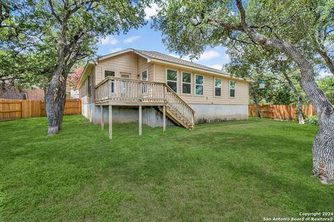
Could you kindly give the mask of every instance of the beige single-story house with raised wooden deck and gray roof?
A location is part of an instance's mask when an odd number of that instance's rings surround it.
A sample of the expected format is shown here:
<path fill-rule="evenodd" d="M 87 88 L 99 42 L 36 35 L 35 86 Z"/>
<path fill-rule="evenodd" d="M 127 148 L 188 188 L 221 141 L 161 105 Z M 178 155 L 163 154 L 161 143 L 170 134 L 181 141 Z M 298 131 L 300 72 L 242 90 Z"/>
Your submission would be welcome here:
<path fill-rule="evenodd" d="M 247 119 L 250 82 L 156 51 L 125 49 L 88 62 L 77 89 L 93 123 L 191 129 L 205 121 Z"/>

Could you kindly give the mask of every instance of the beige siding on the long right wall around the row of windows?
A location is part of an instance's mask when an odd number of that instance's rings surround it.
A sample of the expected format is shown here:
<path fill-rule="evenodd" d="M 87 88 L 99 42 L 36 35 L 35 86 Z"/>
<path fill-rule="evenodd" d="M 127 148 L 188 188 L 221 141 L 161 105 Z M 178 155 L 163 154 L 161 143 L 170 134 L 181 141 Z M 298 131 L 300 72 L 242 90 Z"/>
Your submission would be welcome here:
<path fill-rule="evenodd" d="M 179 69 L 178 67 L 155 65 L 155 81 L 166 83 L 166 69 L 177 70 L 177 94 L 189 104 L 240 104 L 248 105 L 248 83 L 242 80 L 236 80 L 235 97 L 229 97 L 229 78 L 205 74 L 205 72 L 194 72 L 190 69 Z M 191 73 L 191 94 L 182 94 L 182 71 Z M 202 96 L 195 94 L 195 74 L 204 76 L 204 94 Z M 222 93 L 221 96 L 214 96 L 214 78 L 221 78 Z"/>

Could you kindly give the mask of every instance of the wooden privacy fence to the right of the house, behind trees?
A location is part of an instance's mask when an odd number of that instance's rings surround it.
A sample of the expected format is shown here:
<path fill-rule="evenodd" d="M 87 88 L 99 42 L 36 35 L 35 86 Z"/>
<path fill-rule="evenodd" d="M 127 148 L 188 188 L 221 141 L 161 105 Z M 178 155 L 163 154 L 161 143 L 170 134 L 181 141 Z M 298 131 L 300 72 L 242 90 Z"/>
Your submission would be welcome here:
<path fill-rule="evenodd" d="M 262 117 L 267 119 L 296 120 L 296 105 L 259 105 Z M 303 113 L 305 116 L 314 116 L 317 113 L 312 105 L 304 105 Z M 250 117 L 257 117 L 255 105 L 249 105 L 248 114 Z"/>

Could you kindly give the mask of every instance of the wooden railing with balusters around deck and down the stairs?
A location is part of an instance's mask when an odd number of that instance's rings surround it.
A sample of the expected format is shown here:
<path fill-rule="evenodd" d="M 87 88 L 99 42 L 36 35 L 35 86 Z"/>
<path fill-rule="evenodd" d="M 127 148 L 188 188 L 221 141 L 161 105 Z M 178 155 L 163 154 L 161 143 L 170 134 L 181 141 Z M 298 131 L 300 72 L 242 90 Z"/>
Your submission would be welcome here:
<path fill-rule="evenodd" d="M 187 123 L 193 124 L 194 111 L 165 83 L 108 76 L 95 86 L 95 101 L 164 103 Z"/>

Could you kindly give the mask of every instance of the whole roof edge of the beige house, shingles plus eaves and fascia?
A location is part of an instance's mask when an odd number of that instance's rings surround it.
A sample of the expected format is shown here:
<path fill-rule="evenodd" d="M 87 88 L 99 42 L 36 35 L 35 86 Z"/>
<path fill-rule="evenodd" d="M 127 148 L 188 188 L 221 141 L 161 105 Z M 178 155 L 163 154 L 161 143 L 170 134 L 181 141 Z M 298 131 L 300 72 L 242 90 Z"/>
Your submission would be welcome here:
<path fill-rule="evenodd" d="M 159 53 L 157 51 L 145 51 L 145 50 L 138 50 L 138 49 L 125 49 L 125 50 L 122 50 L 122 51 L 116 51 L 115 53 L 110 53 L 110 54 L 107 54 L 105 56 L 100 56 L 99 58 L 97 58 L 97 62 L 99 60 L 105 60 L 107 58 L 111 58 L 113 56 L 118 56 L 122 53 L 127 53 L 129 51 L 133 51 L 134 53 L 138 54 L 139 56 L 143 56 L 144 58 L 147 58 L 148 59 L 148 62 L 161 62 L 161 63 L 167 63 L 167 64 L 172 64 L 172 65 L 179 65 L 179 66 L 182 66 L 182 67 L 189 67 L 190 69 L 199 69 L 200 71 L 207 71 L 207 72 L 210 72 L 212 74 L 218 74 L 218 75 L 223 75 L 223 76 L 227 76 L 229 77 L 230 74 L 226 73 L 225 71 L 221 71 L 219 69 L 214 69 L 212 67 L 207 67 L 205 65 L 200 65 L 200 64 L 197 64 L 195 62 L 190 62 L 190 61 L 187 61 L 187 60 L 182 60 L 181 58 L 176 58 L 174 56 L 168 56 L 166 54 L 163 54 L 163 53 Z M 78 86 L 77 88 L 81 87 L 81 81 L 84 80 L 86 78 L 86 70 L 94 65 L 95 62 L 87 62 L 87 65 L 84 69 L 84 73 L 82 74 L 80 80 L 79 80 L 79 83 L 78 83 Z M 235 77 L 234 77 L 235 78 Z M 239 78 L 239 79 L 242 79 L 242 80 L 246 80 L 248 82 L 253 82 L 253 80 L 251 80 L 250 78 Z"/>

